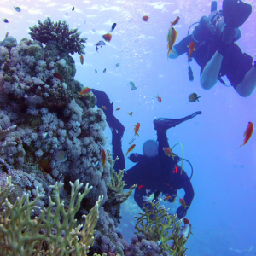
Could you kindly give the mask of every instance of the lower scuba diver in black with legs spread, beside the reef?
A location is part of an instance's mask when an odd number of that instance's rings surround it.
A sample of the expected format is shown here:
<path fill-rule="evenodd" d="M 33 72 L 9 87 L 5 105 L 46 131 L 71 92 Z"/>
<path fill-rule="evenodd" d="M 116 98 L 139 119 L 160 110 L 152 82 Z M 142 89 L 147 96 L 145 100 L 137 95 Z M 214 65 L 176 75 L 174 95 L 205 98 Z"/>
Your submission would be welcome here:
<path fill-rule="evenodd" d="M 95 89 L 91 91 L 97 98 L 97 107 L 106 106 L 103 111 L 106 115 L 108 126 L 112 131 L 113 159 L 117 156 L 119 158 L 114 164 L 114 169 L 119 172 L 119 170 L 125 169 L 125 157 L 121 143 L 125 127 L 114 117 L 113 103 L 109 101 L 107 94 Z M 150 201 L 158 201 L 158 196 L 162 193 L 166 196 L 166 201 L 173 202 L 177 197 L 177 189 L 184 189 L 183 204 L 177 208 L 176 213 L 177 218 L 183 218 L 187 214 L 194 198 L 194 189 L 190 182 L 193 168 L 191 177 L 188 177 L 183 168 L 177 165 L 183 159 L 178 157 L 177 154 L 166 155 L 163 148 L 169 148 L 166 131 L 194 118 L 197 114 L 201 114 L 201 111 L 182 119 L 154 119 L 154 130 L 157 131 L 158 144 L 153 140 L 149 140 L 143 145 L 144 154 L 130 155 L 130 160 L 137 164 L 124 174 L 125 189 L 137 184 L 134 199 L 142 210 L 144 207 L 151 206 L 148 203 L 149 198 Z"/>

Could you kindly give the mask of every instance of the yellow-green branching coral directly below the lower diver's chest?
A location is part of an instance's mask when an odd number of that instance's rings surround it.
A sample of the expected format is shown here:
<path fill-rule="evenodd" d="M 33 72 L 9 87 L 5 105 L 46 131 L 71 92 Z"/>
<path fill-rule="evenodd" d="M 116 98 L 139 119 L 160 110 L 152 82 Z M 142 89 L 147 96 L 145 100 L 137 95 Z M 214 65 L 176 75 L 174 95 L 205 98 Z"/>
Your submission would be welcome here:
<path fill-rule="evenodd" d="M 140 217 L 137 218 L 135 228 L 138 230 L 137 235 L 140 233 L 146 236 L 149 240 L 157 241 L 163 251 L 172 253 L 171 255 L 183 256 L 187 248 L 184 244 L 187 239 L 179 236 L 181 221 L 175 221 L 177 215 L 170 215 L 162 206 L 159 207 L 160 201 L 148 201 L 150 204 L 145 207 L 145 212 L 139 213 Z M 169 235 L 169 232 L 172 234 Z M 168 242 L 173 241 L 172 245 Z"/>

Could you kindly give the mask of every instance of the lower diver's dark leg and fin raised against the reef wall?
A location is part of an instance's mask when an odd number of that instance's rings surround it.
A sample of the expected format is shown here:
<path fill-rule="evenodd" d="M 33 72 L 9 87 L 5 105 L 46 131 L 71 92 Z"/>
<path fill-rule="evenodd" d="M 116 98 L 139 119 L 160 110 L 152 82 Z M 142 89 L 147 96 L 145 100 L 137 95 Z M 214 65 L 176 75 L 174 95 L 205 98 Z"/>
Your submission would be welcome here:
<path fill-rule="evenodd" d="M 112 131 L 113 160 L 115 160 L 116 157 L 119 158 L 119 160 L 117 160 L 114 164 L 114 170 L 119 172 L 119 170 L 125 169 L 125 156 L 122 151 L 121 142 L 125 127 L 113 115 L 113 105 L 111 104 L 108 95 L 104 91 L 95 89 L 92 89 L 91 91 L 97 98 L 97 107 L 102 108 L 102 106 L 105 106 L 107 108 L 103 111 L 106 115 L 108 126 Z"/>

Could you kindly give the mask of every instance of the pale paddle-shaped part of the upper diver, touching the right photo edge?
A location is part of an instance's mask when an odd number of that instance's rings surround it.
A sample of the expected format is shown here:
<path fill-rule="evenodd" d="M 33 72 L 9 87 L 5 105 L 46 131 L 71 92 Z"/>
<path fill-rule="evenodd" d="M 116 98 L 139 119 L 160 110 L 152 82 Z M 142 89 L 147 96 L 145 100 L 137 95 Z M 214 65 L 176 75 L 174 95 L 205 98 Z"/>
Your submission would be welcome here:
<path fill-rule="evenodd" d="M 253 93 L 256 87 L 256 61 L 254 61 L 254 67 L 252 67 L 243 78 L 242 82 L 237 85 L 236 91 L 240 96 L 247 97 Z"/>

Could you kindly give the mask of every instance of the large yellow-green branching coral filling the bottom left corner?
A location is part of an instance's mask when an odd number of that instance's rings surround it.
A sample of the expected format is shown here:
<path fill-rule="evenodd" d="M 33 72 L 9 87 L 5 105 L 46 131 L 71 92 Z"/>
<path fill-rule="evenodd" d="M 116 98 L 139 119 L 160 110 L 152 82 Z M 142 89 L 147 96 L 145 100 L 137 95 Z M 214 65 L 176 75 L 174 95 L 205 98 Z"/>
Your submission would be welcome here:
<path fill-rule="evenodd" d="M 7 186 L 0 189 L 0 255 L 86 255 L 93 245 L 95 225 L 98 219 L 98 208 L 102 203 L 102 197 L 96 201 L 95 207 L 85 218 L 84 226 L 79 224 L 74 228 L 80 203 L 85 195 L 90 192 L 86 184 L 84 193 L 79 193 L 83 183 L 77 180 L 72 187 L 70 203 L 67 211 L 64 202 L 60 201 L 60 190 L 63 183 L 55 183 L 54 199 L 49 196 L 49 206 L 41 209 L 37 202 L 44 195 L 37 195 L 30 202 L 28 194 L 17 198 L 14 205 L 10 204 L 7 197 L 11 189 L 11 177 Z M 55 211 L 54 211 L 55 209 Z M 40 210 L 38 218 L 31 218 L 32 212 Z"/>

